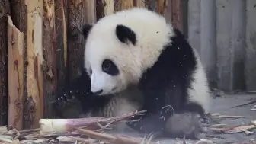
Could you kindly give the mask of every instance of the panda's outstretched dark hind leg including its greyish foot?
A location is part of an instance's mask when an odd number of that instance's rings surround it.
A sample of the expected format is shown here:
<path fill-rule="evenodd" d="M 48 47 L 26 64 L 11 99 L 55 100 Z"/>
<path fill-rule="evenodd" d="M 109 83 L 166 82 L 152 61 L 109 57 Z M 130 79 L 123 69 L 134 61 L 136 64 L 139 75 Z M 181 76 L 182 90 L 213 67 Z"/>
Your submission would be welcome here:
<path fill-rule="evenodd" d="M 158 114 L 146 114 L 138 121 L 127 123 L 131 128 L 143 133 L 153 133 L 156 137 L 202 139 L 207 133 L 207 120 L 201 107 L 187 104 L 187 110 L 174 113 L 164 107 Z M 190 107 L 190 109 L 189 109 Z"/>

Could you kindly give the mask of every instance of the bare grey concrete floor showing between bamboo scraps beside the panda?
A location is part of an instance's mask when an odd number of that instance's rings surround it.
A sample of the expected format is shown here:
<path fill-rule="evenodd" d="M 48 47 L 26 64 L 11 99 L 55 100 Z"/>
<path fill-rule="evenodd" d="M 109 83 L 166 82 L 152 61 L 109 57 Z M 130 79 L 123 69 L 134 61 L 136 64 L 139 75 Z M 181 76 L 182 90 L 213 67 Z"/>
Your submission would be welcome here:
<path fill-rule="evenodd" d="M 232 116 L 245 116 L 245 118 L 238 119 L 224 119 L 219 120 L 219 123 L 224 123 L 229 126 L 237 126 L 241 124 L 248 124 L 251 120 L 256 120 L 256 111 L 251 111 L 250 109 L 254 107 L 255 104 L 249 104 L 242 107 L 233 106 L 239 104 L 245 104 L 249 101 L 256 100 L 256 94 L 235 94 L 226 95 L 223 97 L 218 97 L 213 99 L 213 108 L 211 113 L 219 113 L 221 115 L 232 115 Z M 255 134 L 247 135 L 245 132 L 242 133 L 231 133 L 231 134 L 210 134 L 206 139 L 212 140 L 214 143 L 242 143 L 248 142 L 250 139 L 256 139 Z M 132 135 L 134 135 L 133 133 Z M 137 135 L 138 136 L 138 135 Z M 169 144 L 169 143 L 180 143 L 181 139 L 155 139 L 158 144 Z M 192 141 L 187 139 L 187 143 L 196 143 L 197 141 Z"/>

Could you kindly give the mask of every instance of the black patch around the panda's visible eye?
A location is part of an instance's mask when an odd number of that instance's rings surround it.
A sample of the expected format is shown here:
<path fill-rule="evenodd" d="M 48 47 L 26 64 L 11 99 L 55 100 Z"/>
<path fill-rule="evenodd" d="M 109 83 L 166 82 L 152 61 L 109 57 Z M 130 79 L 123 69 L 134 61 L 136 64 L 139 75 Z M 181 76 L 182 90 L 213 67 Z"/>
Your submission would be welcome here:
<path fill-rule="evenodd" d="M 114 64 L 114 62 L 110 59 L 104 59 L 102 62 L 101 69 L 103 72 L 106 72 L 108 75 L 118 75 L 119 70 L 117 68 L 117 65 Z"/>

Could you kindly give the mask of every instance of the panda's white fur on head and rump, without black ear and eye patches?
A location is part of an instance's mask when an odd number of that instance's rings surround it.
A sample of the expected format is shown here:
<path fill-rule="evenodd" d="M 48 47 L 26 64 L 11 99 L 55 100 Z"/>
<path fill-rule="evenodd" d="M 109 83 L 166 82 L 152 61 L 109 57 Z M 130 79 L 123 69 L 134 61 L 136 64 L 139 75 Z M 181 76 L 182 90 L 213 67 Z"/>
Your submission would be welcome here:
<path fill-rule="evenodd" d="M 117 24 L 136 31 L 136 46 L 120 43 L 114 33 Z M 156 34 L 156 31 L 161 34 Z M 102 18 L 92 27 L 85 46 L 85 67 L 92 70 L 92 74 L 88 72 L 91 74 L 91 91 L 103 89 L 100 95 L 114 94 L 126 89 L 128 84 L 138 83 L 146 69 L 137 68 L 152 66 L 161 50 L 169 43 L 170 35 L 174 35 L 171 24 L 162 16 L 143 8 L 120 11 Z M 190 101 L 201 104 L 207 113 L 210 110 L 210 88 L 199 56 L 194 52 L 197 69 L 194 82 L 191 83 L 192 88 L 189 89 Z M 119 66 L 120 75 L 113 77 L 102 72 L 101 62 L 107 57 L 111 57 Z M 116 89 L 111 91 L 113 88 Z"/>

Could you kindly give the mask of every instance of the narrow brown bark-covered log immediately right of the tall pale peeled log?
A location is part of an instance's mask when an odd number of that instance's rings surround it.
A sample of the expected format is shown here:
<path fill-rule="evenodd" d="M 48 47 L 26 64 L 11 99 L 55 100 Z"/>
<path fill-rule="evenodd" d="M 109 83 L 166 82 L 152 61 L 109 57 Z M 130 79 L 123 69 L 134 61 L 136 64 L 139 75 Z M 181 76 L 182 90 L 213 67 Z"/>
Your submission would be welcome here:
<path fill-rule="evenodd" d="M 56 91 L 56 32 L 55 32 L 54 0 L 43 0 L 43 98 L 44 117 L 54 116 L 51 101 Z"/>

